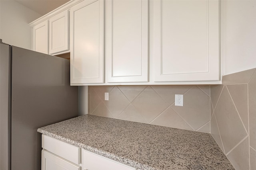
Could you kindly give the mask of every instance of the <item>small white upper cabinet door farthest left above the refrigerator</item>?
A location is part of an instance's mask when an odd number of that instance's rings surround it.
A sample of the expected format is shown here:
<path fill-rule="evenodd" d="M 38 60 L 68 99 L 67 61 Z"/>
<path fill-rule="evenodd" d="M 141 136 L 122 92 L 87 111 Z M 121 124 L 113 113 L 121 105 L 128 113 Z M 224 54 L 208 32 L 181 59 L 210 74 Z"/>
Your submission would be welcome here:
<path fill-rule="evenodd" d="M 32 49 L 48 54 L 48 20 L 38 23 L 32 28 Z"/>

